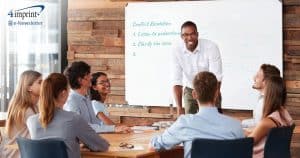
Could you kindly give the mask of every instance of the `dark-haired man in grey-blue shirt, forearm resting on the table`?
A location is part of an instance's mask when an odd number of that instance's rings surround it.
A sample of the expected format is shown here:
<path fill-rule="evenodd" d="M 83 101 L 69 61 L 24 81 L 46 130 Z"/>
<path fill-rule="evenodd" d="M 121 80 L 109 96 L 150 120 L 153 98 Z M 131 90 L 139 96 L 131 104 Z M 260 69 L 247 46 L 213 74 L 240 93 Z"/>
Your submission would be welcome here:
<path fill-rule="evenodd" d="M 64 75 L 68 78 L 71 91 L 64 110 L 73 111 L 81 115 L 89 125 L 97 132 L 126 132 L 126 126 L 105 125 L 100 121 L 93 111 L 91 100 L 88 97 L 88 90 L 91 87 L 91 67 L 83 62 L 73 62 Z"/>

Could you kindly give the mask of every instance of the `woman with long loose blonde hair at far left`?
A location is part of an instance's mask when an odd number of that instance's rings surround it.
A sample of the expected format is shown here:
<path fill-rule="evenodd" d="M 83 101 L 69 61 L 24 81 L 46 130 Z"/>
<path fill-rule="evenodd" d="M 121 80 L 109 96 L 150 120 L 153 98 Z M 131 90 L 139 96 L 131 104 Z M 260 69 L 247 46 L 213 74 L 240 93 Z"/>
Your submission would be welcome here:
<path fill-rule="evenodd" d="M 40 96 L 42 74 L 37 71 L 24 71 L 16 86 L 15 92 L 8 105 L 8 116 L 3 133 L 3 142 L 0 151 L 3 157 L 19 158 L 19 150 L 4 148 L 6 145 L 16 144 L 17 137 L 30 138 L 26 126 L 29 116 L 38 112 L 37 102 Z M 0 149 L 1 150 L 1 149 Z"/>

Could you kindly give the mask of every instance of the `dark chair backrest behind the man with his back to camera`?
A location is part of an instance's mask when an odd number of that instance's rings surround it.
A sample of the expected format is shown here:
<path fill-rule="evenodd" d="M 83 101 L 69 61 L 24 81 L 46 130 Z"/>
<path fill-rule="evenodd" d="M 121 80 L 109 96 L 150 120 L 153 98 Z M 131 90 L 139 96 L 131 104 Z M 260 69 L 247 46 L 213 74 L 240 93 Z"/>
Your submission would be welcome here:
<path fill-rule="evenodd" d="M 195 139 L 192 158 L 252 158 L 253 138 L 233 140 Z"/>

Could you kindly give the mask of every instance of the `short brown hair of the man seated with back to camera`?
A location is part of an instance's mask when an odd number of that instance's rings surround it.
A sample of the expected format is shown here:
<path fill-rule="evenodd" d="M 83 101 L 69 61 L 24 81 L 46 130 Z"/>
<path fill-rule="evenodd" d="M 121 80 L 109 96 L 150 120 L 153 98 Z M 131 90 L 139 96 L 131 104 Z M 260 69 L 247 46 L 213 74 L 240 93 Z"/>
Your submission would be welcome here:
<path fill-rule="evenodd" d="M 214 102 L 218 80 L 213 73 L 208 71 L 198 73 L 193 80 L 193 86 L 200 103 Z"/>

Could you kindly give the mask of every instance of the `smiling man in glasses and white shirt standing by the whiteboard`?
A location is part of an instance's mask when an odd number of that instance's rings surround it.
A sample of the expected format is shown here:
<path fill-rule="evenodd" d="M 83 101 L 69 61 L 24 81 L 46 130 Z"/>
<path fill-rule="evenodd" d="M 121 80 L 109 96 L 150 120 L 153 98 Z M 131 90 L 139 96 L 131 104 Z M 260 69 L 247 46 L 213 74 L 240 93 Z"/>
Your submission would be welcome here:
<path fill-rule="evenodd" d="M 195 114 L 198 105 L 192 97 L 192 81 L 197 73 L 209 71 L 216 75 L 218 90 L 222 80 L 222 60 L 218 46 L 212 41 L 198 39 L 198 31 L 195 23 L 187 21 L 181 26 L 181 38 L 183 44 L 176 48 L 172 54 L 172 80 L 177 115 L 184 114 L 182 107 L 182 95 L 186 114 Z M 184 81 L 184 82 L 183 82 Z M 183 89 L 183 86 L 185 87 Z M 218 111 L 221 112 L 221 95 L 219 93 Z"/>

